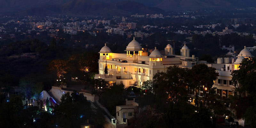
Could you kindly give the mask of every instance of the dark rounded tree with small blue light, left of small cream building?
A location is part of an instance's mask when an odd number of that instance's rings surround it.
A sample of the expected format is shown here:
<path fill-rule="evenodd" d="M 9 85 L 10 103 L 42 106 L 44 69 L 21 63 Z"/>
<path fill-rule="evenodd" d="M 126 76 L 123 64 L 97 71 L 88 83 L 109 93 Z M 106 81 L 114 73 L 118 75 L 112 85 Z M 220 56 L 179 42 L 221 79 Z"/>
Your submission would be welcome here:
<path fill-rule="evenodd" d="M 57 124 L 63 128 L 80 127 L 81 123 L 87 123 L 93 115 L 90 102 L 82 93 L 65 93 L 61 97 L 60 105 L 53 111 Z"/>

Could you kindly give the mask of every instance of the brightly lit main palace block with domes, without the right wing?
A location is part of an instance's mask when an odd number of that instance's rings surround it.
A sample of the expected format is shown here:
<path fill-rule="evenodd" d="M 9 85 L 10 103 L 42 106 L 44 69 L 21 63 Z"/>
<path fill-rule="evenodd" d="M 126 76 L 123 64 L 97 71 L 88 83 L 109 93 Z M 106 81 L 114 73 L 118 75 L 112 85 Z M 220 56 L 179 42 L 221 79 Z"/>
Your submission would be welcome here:
<path fill-rule="evenodd" d="M 99 74 L 95 75 L 95 79 L 122 83 L 125 87 L 141 87 L 144 81 L 152 80 L 156 73 L 165 72 L 167 67 L 192 67 L 199 62 L 195 55 L 190 57 L 190 49 L 186 44 L 181 48 L 180 55 L 174 55 L 173 51 L 172 45 L 167 44 L 163 55 L 155 47 L 148 56 L 148 52 L 145 52 L 134 38 L 126 46 L 124 53 L 113 53 L 105 44 L 99 52 Z M 108 74 L 104 74 L 106 64 Z"/>

